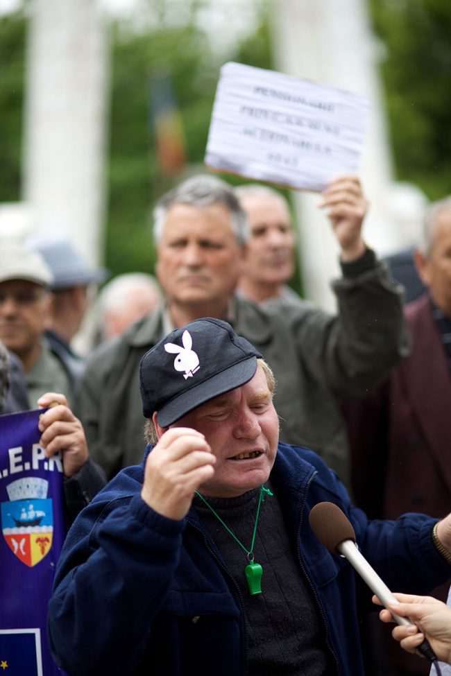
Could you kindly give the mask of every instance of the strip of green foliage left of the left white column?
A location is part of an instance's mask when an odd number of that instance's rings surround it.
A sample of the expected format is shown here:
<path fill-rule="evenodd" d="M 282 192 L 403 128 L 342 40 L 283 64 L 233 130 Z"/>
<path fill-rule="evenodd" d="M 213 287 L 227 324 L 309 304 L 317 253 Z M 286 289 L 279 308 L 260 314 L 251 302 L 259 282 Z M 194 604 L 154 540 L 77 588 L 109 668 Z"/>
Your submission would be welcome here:
<path fill-rule="evenodd" d="M 25 31 L 22 10 L 0 17 L 0 202 L 21 194 Z"/>

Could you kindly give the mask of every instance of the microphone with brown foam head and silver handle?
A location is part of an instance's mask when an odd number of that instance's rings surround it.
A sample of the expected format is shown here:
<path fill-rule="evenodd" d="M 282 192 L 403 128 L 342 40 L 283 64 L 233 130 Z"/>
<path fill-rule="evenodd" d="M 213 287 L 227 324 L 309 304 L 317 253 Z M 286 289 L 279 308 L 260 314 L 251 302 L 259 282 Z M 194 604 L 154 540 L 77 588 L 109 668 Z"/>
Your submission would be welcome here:
<path fill-rule="evenodd" d="M 382 605 L 386 608 L 389 603 L 398 603 L 385 582 L 381 580 L 376 571 L 371 567 L 366 558 L 361 555 L 357 549 L 355 541 L 355 530 L 352 528 L 346 514 L 332 502 L 317 503 L 312 507 L 309 514 L 310 528 L 318 540 L 325 546 L 330 553 L 345 556 L 350 564 L 355 568 L 360 577 L 368 584 L 368 587 L 375 593 Z M 407 617 L 396 615 L 390 611 L 393 620 L 398 625 L 415 624 Z M 427 639 L 418 645 L 419 650 L 429 661 L 436 662 L 437 657 L 432 650 Z"/>

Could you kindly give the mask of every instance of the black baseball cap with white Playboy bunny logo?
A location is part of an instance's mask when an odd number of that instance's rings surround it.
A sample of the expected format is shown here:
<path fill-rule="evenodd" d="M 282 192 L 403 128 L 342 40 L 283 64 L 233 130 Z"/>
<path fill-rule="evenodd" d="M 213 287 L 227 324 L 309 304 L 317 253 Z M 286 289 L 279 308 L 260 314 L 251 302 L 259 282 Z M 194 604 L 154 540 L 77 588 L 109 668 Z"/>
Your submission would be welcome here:
<path fill-rule="evenodd" d="M 169 333 L 139 366 L 144 417 L 171 425 L 205 401 L 244 385 L 262 355 L 228 322 L 206 317 Z"/>

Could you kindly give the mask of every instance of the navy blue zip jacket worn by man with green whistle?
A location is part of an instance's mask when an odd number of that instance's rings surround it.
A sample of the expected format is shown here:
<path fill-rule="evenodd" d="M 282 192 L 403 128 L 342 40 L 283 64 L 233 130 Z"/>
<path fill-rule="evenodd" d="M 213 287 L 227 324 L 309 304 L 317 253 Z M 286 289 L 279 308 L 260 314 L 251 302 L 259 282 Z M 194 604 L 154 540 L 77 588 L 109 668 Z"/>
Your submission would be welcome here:
<path fill-rule="evenodd" d="M 56 661 L 71 676 L 246 675 L 240 594 L 194 510 L 173 521 L 140 496 L 144 465 L 122 470 L 69 531 L 49 604 Z M 428 593 L 450 578 L 432 544 L 436 519 L 368 521 L 307 449 L 279 444 L 271 472 L 300 574 L 312 586 L 341 675 L 363 674 L 359 616 L 371 591 L 309 527 L 321 501 L 339 505 L 362 553 L 395 591 Z"/>

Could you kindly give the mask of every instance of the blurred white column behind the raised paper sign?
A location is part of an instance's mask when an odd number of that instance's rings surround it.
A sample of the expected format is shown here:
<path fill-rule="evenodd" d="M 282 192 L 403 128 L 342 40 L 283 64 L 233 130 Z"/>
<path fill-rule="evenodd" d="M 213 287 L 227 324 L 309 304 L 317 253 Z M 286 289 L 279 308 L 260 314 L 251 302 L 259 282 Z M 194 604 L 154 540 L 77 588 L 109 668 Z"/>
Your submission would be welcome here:
<path fill-rule="evenodd" d="M 323 85 L 364 94 L 371 102 L 359 175 L 371 207 L 364 237 L 377 252 L 402 244 L 387 198 L 392 181 L 384 104 L 376 70 L 376 45 L 364 0 L 273 0 L 276 68 Z M 334 309 L 330 280 L 339 275 L 338 245 L 320 197 L 295 193 L 300 222 L 300 261 L 305 295 Z"/>

